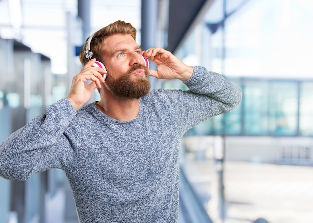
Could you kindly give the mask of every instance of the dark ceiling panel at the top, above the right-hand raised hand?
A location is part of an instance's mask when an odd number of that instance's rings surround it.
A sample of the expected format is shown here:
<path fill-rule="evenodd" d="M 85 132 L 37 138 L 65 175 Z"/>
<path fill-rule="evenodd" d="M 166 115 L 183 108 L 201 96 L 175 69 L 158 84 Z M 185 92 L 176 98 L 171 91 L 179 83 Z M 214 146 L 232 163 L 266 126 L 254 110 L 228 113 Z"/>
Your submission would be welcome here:
<path fill-rule="evenodd" d="M 207 0 L 170 0 L 167 50 L 174 52 Z"/>

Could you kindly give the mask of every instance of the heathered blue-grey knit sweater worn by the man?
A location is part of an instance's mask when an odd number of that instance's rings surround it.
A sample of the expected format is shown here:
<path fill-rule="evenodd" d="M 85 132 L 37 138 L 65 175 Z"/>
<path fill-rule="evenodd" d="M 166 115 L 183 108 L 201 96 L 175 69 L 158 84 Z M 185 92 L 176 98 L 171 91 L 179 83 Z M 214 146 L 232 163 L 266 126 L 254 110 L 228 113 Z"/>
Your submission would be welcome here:
<path fill-rule="evenodd" d="M 81 223 L 177 223 L 183 134 L 241 100 L 237 87 L 201 66 L 185 84 L 192 92 L 160 89 L 141 98 L 131 121 L 112 119 L 95 103 L 75 111 L 61 99 L 2 143 L 0 175 L 26 180 L 63 169 Z"/>

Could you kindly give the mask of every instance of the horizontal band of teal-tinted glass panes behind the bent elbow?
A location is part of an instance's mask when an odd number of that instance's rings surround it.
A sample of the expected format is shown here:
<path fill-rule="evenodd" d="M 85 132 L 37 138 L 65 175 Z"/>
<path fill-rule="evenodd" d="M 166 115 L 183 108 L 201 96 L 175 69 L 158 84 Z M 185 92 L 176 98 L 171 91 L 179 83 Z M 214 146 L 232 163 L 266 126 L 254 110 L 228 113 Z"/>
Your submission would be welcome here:
<path fill-rule="evenodd" d="M 186 135 L 313 136 L 313 80 L 227 79 L 241 87 L 241 104 Z"/>

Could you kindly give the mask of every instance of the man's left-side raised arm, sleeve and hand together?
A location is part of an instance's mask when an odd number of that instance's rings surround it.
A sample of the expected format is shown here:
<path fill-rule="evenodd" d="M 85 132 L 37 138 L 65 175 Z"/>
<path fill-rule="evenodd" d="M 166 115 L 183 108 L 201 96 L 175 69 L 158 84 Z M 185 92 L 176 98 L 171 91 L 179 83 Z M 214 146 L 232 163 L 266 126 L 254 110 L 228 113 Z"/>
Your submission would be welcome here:
<path fill-rule="evenodd" d="M 64 131 L 76 115 L 76 110 L 90 98 L 101 83 L 106 70 L 93 67 L 90 60 L 73 78 L 67 98 L 47 108 L 47 113 L 36 117 L 26 126 L 12 133 L 0 146 L 0 176 L 25 180 L 32 174 L 49 168 L 61 168 L 70 160 L 70 139 Z M 90 81 L 89 84 L 86 84 Z"/>

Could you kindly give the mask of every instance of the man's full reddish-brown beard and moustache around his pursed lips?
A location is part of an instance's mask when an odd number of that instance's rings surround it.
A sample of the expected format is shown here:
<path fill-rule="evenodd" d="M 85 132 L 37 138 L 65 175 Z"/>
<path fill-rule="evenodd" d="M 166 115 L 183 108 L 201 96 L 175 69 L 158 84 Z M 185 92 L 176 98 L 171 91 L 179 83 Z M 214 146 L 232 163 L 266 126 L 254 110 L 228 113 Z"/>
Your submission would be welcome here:
<path fill-rule="evenodd" d="M 145 76 L 137 77 L 135 80 L 131 80 L 133 72 L 137 69 L 144 69 Z M 112 76 L 107 76 L 107 84 L 109 90 L 119 97 L 129 99 L 139 99 L 147 95 L 150 91 L 151 84 L 148 78 L 148 69 L 143 65 L 133 66 L 124 76 L 117 79 Z"/>

